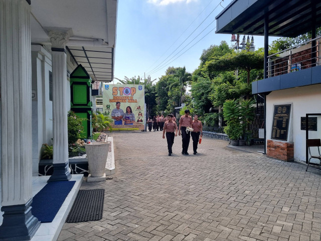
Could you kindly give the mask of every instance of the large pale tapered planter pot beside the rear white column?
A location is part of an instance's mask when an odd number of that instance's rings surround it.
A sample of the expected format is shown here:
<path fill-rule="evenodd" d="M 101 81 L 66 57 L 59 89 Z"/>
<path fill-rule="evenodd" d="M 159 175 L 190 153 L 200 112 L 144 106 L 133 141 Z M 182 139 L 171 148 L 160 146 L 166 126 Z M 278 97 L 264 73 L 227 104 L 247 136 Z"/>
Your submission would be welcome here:
<path fill-rule="evenodd" d="M 89 173 L 92 177 L 104 175 L 110 142 L 85 144 Z"/>

